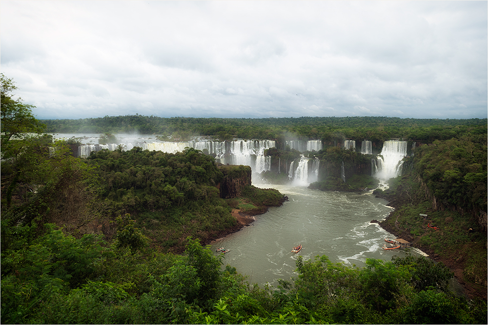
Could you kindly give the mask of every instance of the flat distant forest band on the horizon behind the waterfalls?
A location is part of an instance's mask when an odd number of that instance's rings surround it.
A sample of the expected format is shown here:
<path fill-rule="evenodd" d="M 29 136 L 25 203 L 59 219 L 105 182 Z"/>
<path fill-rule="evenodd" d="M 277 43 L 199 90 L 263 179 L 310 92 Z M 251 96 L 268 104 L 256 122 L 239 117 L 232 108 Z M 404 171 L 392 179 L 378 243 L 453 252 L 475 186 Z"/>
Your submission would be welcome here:
<path fill-rule="evenodd" d="M 344 139 L 383 142 L 392 138 L 419 142 L 448 140 L 469 131 L 485 134 L 487 119 L 438 120 L 389 117 L 301 117 L 267 119 L 160 118 L 156 116 L 105 116 L 80 120 L 41 120 L 48 133 L 160 134 L 187 140 L 191 136 L 232 136 L 243 139 L 297 137 L 324 142 Z"/>

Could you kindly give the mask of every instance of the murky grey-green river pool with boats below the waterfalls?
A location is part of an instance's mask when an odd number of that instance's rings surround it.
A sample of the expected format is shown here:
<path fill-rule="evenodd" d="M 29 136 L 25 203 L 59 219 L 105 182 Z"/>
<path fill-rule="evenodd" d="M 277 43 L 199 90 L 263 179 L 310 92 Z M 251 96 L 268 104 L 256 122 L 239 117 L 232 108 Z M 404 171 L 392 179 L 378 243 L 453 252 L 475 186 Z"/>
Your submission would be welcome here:
<path fill-rule="evenodd" d="M 212 249 L 225 247 L 224 266 L 230 265 L 248 276 L 251 284 L 276 286 L 278 279 L 295 277 L 295 261 L 326 255 L 331 262 L 364 266 L 367 258 L 390 261 L 405 250 L 384 250 L 385 238 L 396 238 L 378 223 L 393 210 L 387 201 L 371 192 L 349 193 L 312 190 L 306 187 L 260 185 L 276 188 L 289 201 L 255 216 L 256 221 L 242 230 L 213 243 Z M 299 253 L 293 246 L 302 244 Z M 415 249 L 412 254 L 421 254 Z M 215 252 L 215 254 L 221 254 Z"/>

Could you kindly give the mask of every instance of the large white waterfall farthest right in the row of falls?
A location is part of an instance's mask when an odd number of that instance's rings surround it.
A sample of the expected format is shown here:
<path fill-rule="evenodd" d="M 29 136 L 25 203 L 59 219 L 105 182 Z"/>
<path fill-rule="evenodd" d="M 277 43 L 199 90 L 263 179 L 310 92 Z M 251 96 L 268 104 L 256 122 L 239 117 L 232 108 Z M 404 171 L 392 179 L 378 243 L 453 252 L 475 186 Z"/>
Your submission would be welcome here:
<path fill-rule="evenodd" d="M 382 157 L 377 161 L 375 177 L 388 180 L 399 176 L 402 171 L 402 159 L 407 156 L 407 141 L 385 141 L 380 155 Z"/>

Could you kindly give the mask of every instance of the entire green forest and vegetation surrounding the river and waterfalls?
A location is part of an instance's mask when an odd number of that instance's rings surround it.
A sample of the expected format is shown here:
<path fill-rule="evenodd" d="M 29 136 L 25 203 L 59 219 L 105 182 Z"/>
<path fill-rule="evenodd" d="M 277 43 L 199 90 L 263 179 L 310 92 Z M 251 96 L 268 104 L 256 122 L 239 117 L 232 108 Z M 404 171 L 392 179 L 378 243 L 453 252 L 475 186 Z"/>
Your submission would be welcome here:
<path fill-rule="evenodd" d="M 396 118 L 189 119 L 105 117 L 39 121 L 1 80 L 1 322 L 6 324 L 484 324 L 487 321 L 487 120 Z M 384 226 L 443 261 L 463 263 L 472 292 L 448 287 L 442 262 L 407 256 L 332 263 L 298 258 L 278 287 L 250 284 L 204 244 L 235 231 L 233 210 L 263 213 L 285 198 L 250 184 L 247 166 L 220 166 L 202 151 L 93 152 L 44 132 L 157 133 L 172 139 L 320 139 L 329 174 L 320 189 L 374 180 L 370 157 L 344 139 L 419 142 L 404 175 L 375 194 L 396 207 Z M 334 143 L 336 142 L 336 143 Z M 281 142 L 283 143 L 283 141 Z M 422 145 L 420 145 L 422 144 Z M 289 148 L 268 150 L 293 159 Z M 337 164 L 356 171 L 342 184 Z M 337 182 L 339 181 L 339 182 Z M 428 210 L 441 228 L 431 231 Z M 420 212 L 419 212 L 420 211 Z M 415 218 L 414 218 L 415 217 Z M 457 255 L 456 255 L 457 254 Z M 455 264 L 458 263 L 458 264 Z M 448 265 L 451 267 L 452 265 Z M 452 268 L 452 267 L 451 267 Z M 456 268 L 456 267 L 454 267 Z M 481 296 L 484 299 L 477 299 Z"/>

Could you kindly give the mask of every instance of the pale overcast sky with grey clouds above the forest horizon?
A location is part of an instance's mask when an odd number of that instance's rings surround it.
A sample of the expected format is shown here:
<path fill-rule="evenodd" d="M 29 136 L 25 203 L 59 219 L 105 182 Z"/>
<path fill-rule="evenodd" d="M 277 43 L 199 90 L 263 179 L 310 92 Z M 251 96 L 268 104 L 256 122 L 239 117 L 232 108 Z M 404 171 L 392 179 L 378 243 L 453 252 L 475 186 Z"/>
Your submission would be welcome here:
<path fill-rule="evenodd" d="M 487 118 L 488 1 L 6 1 L 39 119 Z"/>

